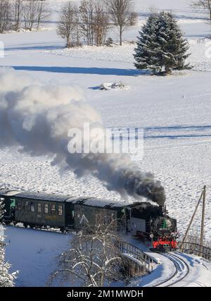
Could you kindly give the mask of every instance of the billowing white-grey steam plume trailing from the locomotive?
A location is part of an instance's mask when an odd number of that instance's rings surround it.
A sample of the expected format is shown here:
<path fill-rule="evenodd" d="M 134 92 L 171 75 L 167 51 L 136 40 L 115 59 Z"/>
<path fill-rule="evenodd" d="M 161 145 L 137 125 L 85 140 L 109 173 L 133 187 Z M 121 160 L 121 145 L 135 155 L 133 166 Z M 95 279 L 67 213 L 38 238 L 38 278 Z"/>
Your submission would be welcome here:
<path fill-rule="evenodd" d="M 70 154 L 68 131 L 84 123 L 102 127 L 101 117 L 70 85 L 43 84 L 12 68 L 0 68 L 0 148 L 17 146 L 31 156 L 51 155 L 52 164 L 77 176 L 91 173 L 115 190 L 164 204 L 165 192 L 124 154 Z"/>

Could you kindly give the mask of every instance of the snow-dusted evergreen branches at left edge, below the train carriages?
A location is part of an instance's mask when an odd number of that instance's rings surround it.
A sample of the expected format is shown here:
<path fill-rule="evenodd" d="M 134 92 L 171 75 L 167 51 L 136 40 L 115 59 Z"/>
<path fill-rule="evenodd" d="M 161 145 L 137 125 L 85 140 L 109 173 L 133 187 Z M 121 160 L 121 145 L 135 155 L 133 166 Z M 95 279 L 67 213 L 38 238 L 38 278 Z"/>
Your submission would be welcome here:
<path fill-rule="evenodd" d="M 4 205 L 3 202 L 1 202 L 0 199 L 0 227 L 1 220 L 4 213 Z M 5 262 L 5 248 L 4 248 L 4 237 L 1 236 L 0 233 L 0 288 L 2 287 L 12 287 L 14 286 L 14 280 L 16 278 L 15 274 L 10 274 L 9 269 L 11 267 L 11 264 L 8 264 L 8 262 Z"/>

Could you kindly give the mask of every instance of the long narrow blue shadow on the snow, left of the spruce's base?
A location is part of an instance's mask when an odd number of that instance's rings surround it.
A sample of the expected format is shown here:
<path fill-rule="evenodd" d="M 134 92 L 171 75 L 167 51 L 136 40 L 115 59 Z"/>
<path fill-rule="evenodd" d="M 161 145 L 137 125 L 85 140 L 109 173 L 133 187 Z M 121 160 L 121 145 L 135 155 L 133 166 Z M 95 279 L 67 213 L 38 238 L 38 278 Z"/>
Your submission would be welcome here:
<path fill-rule="evenodd" d="M 91 67 L 51 67 L 51 66 L 12 66 L 15 70 L 43 71 L 51 73 L 96 74 L 96 75 L 121 75 L 138 76 L 148 75 L 146 71 L 119 68 L 91 68 Z"/>

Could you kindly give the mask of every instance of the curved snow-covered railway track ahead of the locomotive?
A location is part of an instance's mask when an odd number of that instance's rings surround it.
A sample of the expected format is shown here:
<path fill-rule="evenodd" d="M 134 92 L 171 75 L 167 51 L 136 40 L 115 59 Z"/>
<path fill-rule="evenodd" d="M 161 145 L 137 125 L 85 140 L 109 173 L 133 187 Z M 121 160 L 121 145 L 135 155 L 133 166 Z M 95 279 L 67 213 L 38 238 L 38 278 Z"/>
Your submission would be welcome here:
<path fill-rule="evenodd" d="M 173 262 L 175 271 L 174 274 L 170 276 L 170 278 L 167 278 L 165 281 L 158 283 L 157 285 L 155 285 L 155 287 L 170 287 L 174 284 L 179 283 L 180 281 L 183 281 L 184 278 L 188 276 L 190 271 L 188 264 L 186 264 L 186 262 L 181 259 L 181 257 L 178 257 L 175 254 L 167 252 L 162 255 Z"/>

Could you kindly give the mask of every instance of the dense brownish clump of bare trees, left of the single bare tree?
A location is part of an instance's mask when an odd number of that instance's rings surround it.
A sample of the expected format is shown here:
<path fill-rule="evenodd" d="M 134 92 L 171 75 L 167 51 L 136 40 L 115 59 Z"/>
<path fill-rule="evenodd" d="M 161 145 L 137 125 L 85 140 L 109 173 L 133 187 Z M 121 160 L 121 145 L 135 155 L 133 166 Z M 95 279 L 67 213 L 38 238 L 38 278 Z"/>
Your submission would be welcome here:
<path fill-rule="evenodd" d="M 109 18 L 103 1 L 82 0 L 79 7 L 69 1 L 60 13 L 57 32 L 67 39 L 68 47 L 78 46 L 80 37 L 89 46 L 101 46 L 106 43 L 108 28 Z"/>

